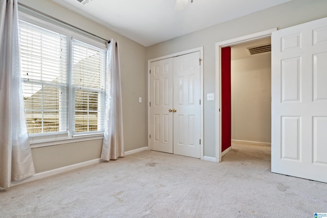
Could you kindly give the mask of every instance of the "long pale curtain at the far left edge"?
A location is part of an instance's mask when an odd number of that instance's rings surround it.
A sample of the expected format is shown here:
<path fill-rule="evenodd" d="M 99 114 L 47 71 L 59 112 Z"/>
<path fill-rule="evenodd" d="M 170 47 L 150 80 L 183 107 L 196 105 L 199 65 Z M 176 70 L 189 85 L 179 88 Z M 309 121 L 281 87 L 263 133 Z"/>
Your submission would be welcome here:
<path fill-rule="evenodd" d="M 0 0 L 0 186 L 35 174 L 22 98 L 17 0 Z"/>

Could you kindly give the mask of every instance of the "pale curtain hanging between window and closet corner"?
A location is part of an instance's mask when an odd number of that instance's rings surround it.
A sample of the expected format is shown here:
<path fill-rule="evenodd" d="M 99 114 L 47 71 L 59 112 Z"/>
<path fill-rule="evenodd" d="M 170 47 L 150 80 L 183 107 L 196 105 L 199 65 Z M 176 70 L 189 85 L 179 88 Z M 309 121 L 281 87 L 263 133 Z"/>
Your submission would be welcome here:
<path fill-rule="evenodd" d="M 118 41 L 111 39 L 107 50 L 105 125 L 101 159 L 124 157 L 121 70 Z"/>

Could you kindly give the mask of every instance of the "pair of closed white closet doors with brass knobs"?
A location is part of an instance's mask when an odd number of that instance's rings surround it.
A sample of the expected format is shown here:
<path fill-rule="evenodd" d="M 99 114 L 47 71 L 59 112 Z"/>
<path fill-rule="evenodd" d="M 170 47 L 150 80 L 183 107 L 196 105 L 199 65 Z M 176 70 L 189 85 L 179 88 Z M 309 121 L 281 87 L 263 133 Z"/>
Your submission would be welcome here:
<path fill-rule="evenodd" d="M 200 158 L 200 52 L 151 62 L 151 149 Z"/>

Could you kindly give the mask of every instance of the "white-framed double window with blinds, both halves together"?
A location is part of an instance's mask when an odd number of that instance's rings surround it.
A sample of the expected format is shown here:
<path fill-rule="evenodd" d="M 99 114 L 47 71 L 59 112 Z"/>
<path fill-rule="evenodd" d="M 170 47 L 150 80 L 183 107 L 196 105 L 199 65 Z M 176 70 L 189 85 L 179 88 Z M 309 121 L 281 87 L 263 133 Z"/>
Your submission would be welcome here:
<path fill-rule="evenodd" d="M 106 52 L 22 20 L 19 34 L 29 135 L 103 133 Z"/>

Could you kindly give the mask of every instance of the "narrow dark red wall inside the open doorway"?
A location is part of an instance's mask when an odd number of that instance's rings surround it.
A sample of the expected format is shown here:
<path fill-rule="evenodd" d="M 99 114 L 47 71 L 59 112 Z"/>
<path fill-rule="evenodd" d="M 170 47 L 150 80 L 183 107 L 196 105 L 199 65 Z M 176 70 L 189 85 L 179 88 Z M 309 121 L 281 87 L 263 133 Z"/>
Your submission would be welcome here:
<path fill-rule="evenodd" d="M 221 49 L 221 151 L 231 146 L 230 47 Z"/>

